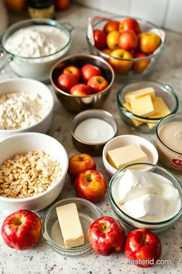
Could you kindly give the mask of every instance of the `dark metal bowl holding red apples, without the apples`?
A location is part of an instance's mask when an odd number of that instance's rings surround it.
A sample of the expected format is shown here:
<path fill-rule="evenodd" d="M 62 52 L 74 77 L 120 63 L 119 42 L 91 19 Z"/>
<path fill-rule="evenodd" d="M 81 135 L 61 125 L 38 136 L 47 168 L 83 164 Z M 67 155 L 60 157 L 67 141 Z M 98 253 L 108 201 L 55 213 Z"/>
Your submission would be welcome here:
<path fill-rule="evenodd" d="M 85 64 L 93 64 L 98 66 L 103 74 L 103 77 L 108 81 L 109 86 L 101 92 L 87 96 L 73 96 L 59 89 L 56 85 L 57 79 L 62 73 L 64 67 L 74 65 L 81 68 Z M 52 68 L 51 83 L 54 91 L 63 105 L 68 111 L 78 113 L 87 109 L 100 109 L 111 92 L 114 82 L 114 71 L 111 65 L 104 59 L 88 54 L 71 55 L 58 61 Z"/>

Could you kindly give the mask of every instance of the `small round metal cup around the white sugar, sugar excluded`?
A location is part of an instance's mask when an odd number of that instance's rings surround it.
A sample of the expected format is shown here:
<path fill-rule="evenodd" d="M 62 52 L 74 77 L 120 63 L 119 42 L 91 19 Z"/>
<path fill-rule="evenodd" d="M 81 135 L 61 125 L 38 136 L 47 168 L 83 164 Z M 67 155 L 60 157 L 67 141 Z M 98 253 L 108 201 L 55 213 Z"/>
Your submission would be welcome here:
<path fill-rule="evenodd" d="M 110 114 L 109 112 L 104 111 L 104 110 L 83 111 L 83 112 L 77 114 L 75 116 L 75 118 L 73 119 L 72 124 L 71 124 L 71 134 L 72 134 L 72 142 L 73 142 L 74 147 L 82 153 L 87 153 L 92 156 L 100 156 L 100 155 L 102 155 L 104 146 L 107 144 L 107 142 L 109 140 L 104 143 L 89 144 L 89 143 L 85 143 L 85 142 L 81 141 L 74 134 L 76 127 L 82 121 L 89 119 L 89 118 L 99 118 L 99 119 L 102 119 L 102 120 L 105 120 L 106 122 L 108 122 L 114 129 L 114 135 L 112 138 L 114 138 L 117 135 L 118 122 L 112 114 Z"/>

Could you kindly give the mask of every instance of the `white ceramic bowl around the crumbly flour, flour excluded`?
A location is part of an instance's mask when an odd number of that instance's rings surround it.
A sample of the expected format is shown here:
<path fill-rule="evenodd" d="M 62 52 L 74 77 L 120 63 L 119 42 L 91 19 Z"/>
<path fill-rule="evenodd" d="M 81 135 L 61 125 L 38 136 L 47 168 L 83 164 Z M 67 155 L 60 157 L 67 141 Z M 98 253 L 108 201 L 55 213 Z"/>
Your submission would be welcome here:
<path fill-rule="evenodd" d="M 42 97 L 45 101 L 47 101 L 50 104 L 50 110 L 43 119 L 41 119 L 32 126 L 23 129 L 0 129 L 0 141 L 11 135 L 22 132 L 31 131 L 46 133 L 51 126 L 53 120 L 54 97 L 51 90 L 47 86 L 36 80 L 26 78 L 14 78 L 0 82 L 0 96 L 11 92 L 22 91 L 29 93 L 37 93 L 40 97 Z"/>

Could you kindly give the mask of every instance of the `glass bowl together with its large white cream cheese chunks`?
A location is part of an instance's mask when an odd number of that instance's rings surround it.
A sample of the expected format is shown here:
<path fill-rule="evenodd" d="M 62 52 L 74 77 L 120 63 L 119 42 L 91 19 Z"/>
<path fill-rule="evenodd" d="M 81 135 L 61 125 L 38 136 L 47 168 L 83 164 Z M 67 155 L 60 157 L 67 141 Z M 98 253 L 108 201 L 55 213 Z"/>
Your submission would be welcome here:
<path fill-rule="evenodd" d="M 152 172 L 145 171 L 149 167 Z M 130 230 L 145 228 L 158 233 L 182 213 L 181 183 L 155 164 L 136 163 L 118 170 L 109 184 L 109 198 L 117 219 Z"/>

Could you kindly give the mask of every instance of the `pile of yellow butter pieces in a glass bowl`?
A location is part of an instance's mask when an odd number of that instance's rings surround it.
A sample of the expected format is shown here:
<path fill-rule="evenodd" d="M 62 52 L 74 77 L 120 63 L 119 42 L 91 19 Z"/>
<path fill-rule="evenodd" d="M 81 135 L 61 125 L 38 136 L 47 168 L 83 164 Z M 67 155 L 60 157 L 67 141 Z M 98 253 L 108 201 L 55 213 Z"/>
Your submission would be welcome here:
<path fill-rule="evenodd" d="M 123 106 L 128 111 L 141 117 L 157 119 L 171 113 L 164 100 L 161 97 L 155 96 L 155 90 L 152 87 L 128 92 L 125 94 L 124 99 L 125 103 Z M 131 118 L 130 120 L 135 126 L 143 124 L 141 121 Z M 155 127 L 156 124 L 155 121 L 147 123 L 150 129 Z"/>

